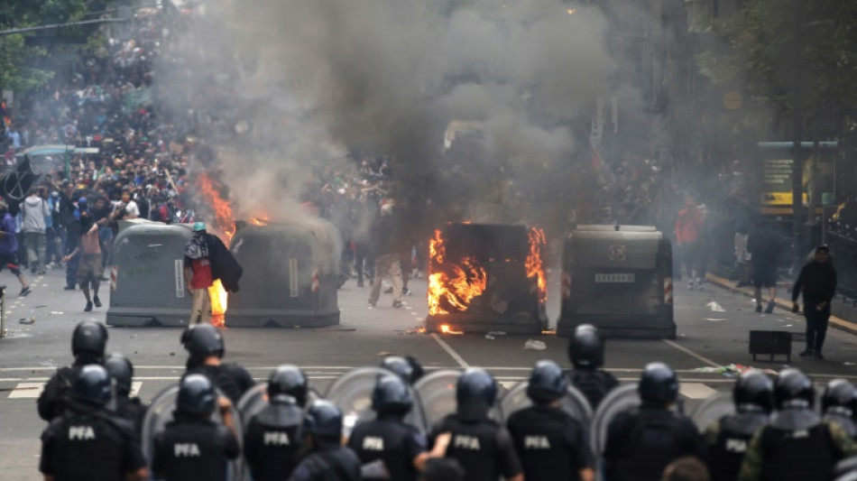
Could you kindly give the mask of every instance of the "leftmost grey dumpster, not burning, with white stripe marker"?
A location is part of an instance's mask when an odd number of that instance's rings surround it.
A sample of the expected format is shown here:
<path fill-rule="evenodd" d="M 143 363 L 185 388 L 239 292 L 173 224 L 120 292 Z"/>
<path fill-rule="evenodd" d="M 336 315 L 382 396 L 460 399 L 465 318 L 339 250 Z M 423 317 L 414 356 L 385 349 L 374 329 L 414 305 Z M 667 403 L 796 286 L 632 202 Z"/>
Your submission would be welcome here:
<path fill-rule="evenodd" d="M 120 230 L 113 246 L 107 325 L 188 325 L 184 246 L 191 234 L 187 224 L 145 221 Z"/>

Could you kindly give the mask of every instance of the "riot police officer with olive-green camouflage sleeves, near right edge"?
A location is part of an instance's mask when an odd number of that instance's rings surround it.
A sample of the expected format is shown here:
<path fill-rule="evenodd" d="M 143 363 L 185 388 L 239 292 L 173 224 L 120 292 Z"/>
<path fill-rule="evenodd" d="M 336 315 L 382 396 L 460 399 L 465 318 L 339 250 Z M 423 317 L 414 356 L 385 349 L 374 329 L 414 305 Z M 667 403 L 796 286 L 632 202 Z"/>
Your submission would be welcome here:
<path fill-rule="evenodd" d="M 815 398 L 816 389 L 806 375 L 794 368 L 780 371 L 774 384 L 777 412 L 753 435 L 740 481 L 830 479 L 839 460 L 857 454 L 842 428 L 813 411 Z"/>

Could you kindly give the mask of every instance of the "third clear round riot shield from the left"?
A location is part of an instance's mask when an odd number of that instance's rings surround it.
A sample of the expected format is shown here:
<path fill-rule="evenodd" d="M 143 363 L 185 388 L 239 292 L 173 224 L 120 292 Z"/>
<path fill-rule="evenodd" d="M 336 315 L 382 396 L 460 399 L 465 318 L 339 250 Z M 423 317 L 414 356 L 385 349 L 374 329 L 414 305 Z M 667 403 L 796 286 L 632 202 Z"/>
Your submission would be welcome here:
<path fill-rule="evenodd" d="M 348 438 L 358 422 L 375 419 L 372 410 L 372 393 L 378 377 L 392 375 L 392 373 L 381 367 L 361 367 L 350 371 L 336 379 L 327 389 L 325 399 L 335 403 L 342 410 L 343 435 Z M 404 421 L 417 428 L 420 432 L 426 432 L 426 415 L 423 412 L 419 393 L 410 388 L 413 398 L 413 409 L 410 410 Z"/>

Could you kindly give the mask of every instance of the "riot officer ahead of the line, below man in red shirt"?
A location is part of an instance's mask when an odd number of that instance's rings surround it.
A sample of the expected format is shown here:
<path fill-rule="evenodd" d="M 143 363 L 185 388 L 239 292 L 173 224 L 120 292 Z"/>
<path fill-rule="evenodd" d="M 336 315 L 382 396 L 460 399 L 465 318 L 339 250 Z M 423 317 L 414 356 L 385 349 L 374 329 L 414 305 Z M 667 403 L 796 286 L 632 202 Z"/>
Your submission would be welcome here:
<path fill-rule="evenodd" d="M 237 403 L 255 384 L 244 367 L 222 361 L 226 353 L 223 335 L 211 324 L 189 326 L 181 335 L 181 343 L 190 355 L 187 372 L 207 375 L 231 402 Z"/>

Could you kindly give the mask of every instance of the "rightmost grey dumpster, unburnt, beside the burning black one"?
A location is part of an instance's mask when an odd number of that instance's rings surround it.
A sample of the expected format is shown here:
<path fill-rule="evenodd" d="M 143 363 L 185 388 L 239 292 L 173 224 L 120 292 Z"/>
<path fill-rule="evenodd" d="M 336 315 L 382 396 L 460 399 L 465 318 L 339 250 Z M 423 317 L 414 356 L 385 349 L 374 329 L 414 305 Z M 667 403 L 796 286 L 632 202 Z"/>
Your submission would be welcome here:
<path fill-rule="evenodd" d="M 563 246 L 559 336 L 676 338 L 672 246 L 655 227 L 580 226 Z"/>

